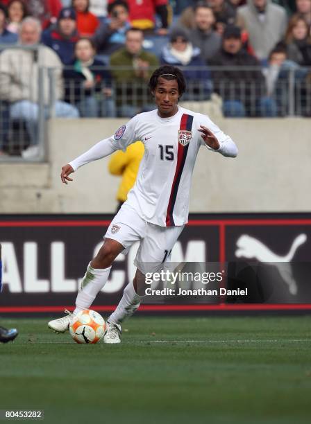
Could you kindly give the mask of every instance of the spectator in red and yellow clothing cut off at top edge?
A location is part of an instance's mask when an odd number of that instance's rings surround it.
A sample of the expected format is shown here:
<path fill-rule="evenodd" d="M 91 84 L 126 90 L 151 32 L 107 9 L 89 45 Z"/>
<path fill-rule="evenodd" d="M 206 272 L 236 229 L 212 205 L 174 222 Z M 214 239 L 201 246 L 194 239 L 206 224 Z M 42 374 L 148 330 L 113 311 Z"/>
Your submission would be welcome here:
<path fill-rule="evenodd" d="M 167 35 L 168 0 L 128 0 L 130 22 L 133 28 L 153 30 L 155 28 L 155 15 L 160 17 L 161 26 L 157 33 Z"/>

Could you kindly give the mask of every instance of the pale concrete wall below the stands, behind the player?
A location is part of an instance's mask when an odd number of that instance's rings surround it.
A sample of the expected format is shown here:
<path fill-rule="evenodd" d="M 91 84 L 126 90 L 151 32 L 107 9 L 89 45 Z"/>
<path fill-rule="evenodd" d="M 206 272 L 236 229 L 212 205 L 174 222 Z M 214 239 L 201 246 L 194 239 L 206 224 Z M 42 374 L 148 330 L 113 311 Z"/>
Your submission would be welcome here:
<path fill-rule="evenodd" d="M 109 213 L 119 178 L 108 158 L 60 182 L 60 168 L 113 134 L 120 119 L 56 119 L 48 128 L 48 164 L 0 164 L 0 213 Z M 239 147 L 236 159 L 201 149 L 194 169 L 190 211 L 310 211 L 311 120 L 221 119 Z"/>

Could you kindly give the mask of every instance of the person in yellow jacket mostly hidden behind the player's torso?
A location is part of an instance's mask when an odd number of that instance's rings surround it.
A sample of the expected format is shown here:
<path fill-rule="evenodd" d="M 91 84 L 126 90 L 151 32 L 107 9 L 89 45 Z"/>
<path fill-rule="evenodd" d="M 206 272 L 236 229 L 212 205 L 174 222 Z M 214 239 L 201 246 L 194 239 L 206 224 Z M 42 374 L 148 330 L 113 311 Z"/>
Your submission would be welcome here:
<path fill-rule="evenodd" d="M 133 187 L 138 168 L 140 167 L 140 161 L 144 156 L 144 145 L 141 141 L 137 141 L 128 146 L 125 152 L 118 150 L 114 154 L 109 162 L 109 172 L 112 175 L 121 175 L 121 183 L 117 192 L 117 211 L 121 208 L 122 204 L 128 197 L 128 192 Z"/>

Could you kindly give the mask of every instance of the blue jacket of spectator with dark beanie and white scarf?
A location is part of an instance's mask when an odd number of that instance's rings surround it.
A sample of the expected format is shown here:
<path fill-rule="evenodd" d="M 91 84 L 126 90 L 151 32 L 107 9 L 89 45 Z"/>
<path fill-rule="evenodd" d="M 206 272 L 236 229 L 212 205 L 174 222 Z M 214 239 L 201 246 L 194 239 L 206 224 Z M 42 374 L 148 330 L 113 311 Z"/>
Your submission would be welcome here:
<path fill-rule="evenodd" d="M 169 64 L 180 67 L 183 70 L 185 79 L 188 82 L 188 96 L 194 95 L 194 100 L 204 100 L 212 93 L 212 78 L 210 71 L 200 56 L 200 49 L 193 48 L 192 58 L 187 65 L 183 65 L 174 55 L 171 54 L 169 44 L 162 49 L 161 64 Z M 196 69 L 192 69 L 196 68 Z M 203 95 L 203 98 L 201 96 Z M 183 96 L 185 98 L 185 96 Z M 189 99 L 191 100 L 191 99 Z"/>

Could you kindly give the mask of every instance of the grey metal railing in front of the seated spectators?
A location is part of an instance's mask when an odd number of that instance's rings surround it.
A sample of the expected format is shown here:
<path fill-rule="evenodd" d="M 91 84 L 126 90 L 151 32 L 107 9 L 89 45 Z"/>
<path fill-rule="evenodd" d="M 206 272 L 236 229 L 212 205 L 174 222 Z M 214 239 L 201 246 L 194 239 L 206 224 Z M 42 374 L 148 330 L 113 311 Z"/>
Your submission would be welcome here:
<path fill-rule="evenodd" d="M 11 48 L 20 49 L 19 46 Z M 37 48 L 23 49 L 31 51 L 34 57 L 38 55 Z M 83 79 L 68 78 L 66 71 L 73 71 L 73 68 L 48 69 L 35 62 L 37 78 L 31 80 L 32 73 L 28 72 L 30 87 L 24 89 L 22 84 L 25 85 L 27 81 L 22 80 L 22 73 L 25 72 L 23 58 L 19 67 L 21 87 L 18 98 L 14 89 L 19 76 L 12 84 L 7 84 L 12 77 L 12 67 L 8 69 L 8 66 L 3 66 L 1 60 L 3 55 L 0 55 L 0 152 L 4 154 L 0 154 L 0 161 L 24 160 L 23 152 L 30 145 L 36 145 L 38 149 L 35 156 L 28 160 L 42 161 L 46 158 L 46 122 L 49 118 L 62 116 L 57 107 L 60 100 L 62 107 L 72 107 L 70 113 L 65 114 L 67 117 L 131 118 L 139 112 L 155 108 L 147 78 L 116 80 L 116 71 L 124 71 L 126 76 L 126 72 L 133 71 L 132 68 L 96 68 L 95 74 L 106 71 L 112 78 L 101 78 L 101 81 L 95 78 L 93 85 L 85 87 Z M 16 69 L 14 71 L 16 73 Z M 264 72 L 258 67 L 186 67 L 183 71 L 187 93 L 180 103 L 194 112 L 210 114 L 211 109 L 216 109 L 219 114 L 229 117 L 311 116 L 311 69 L 284 67 L 277 77 L 274 76 L 272 84 L 269 82 L 269 71 Z M 1 87 L 3 81 L 5 87 Z M 18 104 L 24 100 L 36 105 L 35 120 L 29 120 L 27 114 L 17 113 Z"/>

